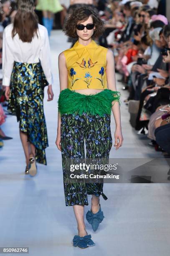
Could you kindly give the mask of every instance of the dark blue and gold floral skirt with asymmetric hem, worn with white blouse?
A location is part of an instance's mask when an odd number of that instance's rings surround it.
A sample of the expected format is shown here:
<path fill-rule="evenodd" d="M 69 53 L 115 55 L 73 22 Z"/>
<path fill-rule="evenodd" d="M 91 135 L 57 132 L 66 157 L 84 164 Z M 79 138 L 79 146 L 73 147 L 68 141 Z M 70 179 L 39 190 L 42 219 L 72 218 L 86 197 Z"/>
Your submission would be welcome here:
<path fill-rule="evenodd" d="M 46 120 L 43 112 L 44 87 L 48 85 L 41 63 L 14 62 L 10 80 L 8 110 L 17 116 L 19 128 L 36 147 L 36 161 L 47 164 Z"/>

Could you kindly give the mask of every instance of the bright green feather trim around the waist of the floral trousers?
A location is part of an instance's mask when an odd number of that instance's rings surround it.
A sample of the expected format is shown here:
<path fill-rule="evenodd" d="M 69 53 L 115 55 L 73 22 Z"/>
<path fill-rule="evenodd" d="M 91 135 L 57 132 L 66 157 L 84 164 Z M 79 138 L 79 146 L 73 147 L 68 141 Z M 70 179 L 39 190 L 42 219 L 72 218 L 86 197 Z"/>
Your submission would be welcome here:
<path fill-rule="evenodd" d="M 81 115 L 84 112 L 100 116 L 111 114 L 114 105 L 112 102 L 118 101 L 119 105 L 121 104 L 120 95 L 120 92 L 109 89 L 104 89 L 94 95 L 84 95 L 67 88 L 60 92 L 57 101 L 58 111 L 61 114 L 77 113 Z"/>

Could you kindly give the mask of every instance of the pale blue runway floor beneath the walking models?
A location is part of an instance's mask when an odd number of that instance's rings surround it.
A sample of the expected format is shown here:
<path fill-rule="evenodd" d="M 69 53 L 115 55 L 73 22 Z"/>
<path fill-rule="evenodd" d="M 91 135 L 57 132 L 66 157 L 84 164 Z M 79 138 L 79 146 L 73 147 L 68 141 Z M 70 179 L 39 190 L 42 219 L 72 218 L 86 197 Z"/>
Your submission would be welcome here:
<path fill-rule="evenodd" d="M 44 111 L 49 147 L 47 166 L 38 164 L 36 177 L 25 175 L 25 158 L 15 116 L 8 116 L 2 126 L 13 140 L 4 141 L 0 149 L 0 247 L 29 247 L 30 256 L 169 256 L 170 254 L 170 184 L 104 184 L 108 200 L 100 199 L 104 220 L 96 232 L 86 222 L 96 246 L 81 250 L 72 246 L 77 234 L 73 207 L 65 206 L 61 151 L 55 145 L 57 134 L 57 100 L 59 95 L 58 54 L 70 43 L 61 31 L 53 31 L 51 57 L 54 74 L 54 100 Z M 119 77 L 119 75 L 117 76 Z M 164 158 L 147 145 L 147 136 L 137 135 L 129 124 L 128 106 L 123 100 L 128 92 L 117 82 L 122 93 L 121 120 L 124 143 L 110 158 Z M 114 142 L 114 117 L 112 137 Z M 114 144 L 114 143 L 113 143 Z M 157 166 L 161 173 L 168 166 Z M 165 168 L 165 169 L 164 169 Z M 90 210 L 85 206 L 85 214 Z M 8 254 L 13 255 L 13 254 Z M 23 255 L 23 254 L 19 254 Z"/>

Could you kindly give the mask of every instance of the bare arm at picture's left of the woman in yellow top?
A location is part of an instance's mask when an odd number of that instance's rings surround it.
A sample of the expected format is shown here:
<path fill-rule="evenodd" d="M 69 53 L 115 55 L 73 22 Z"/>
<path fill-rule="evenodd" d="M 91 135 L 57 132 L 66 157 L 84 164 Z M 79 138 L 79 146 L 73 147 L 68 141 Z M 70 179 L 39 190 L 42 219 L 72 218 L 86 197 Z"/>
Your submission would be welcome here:
<path fill-rule="evenodd" d="M 61 52 L 58 56 L 58 70 L 59 70 L 59 80 L 60 80 L 60 92 L 67 88 L 67 79 L 68 79 L 68 71 L 66 67 L 66 58 L 64 53 Z M 58 127 L 57 127 L 57 138 L 56 145 L 58 149 L 61 151 L 61 115 L 58 111 Z"/>

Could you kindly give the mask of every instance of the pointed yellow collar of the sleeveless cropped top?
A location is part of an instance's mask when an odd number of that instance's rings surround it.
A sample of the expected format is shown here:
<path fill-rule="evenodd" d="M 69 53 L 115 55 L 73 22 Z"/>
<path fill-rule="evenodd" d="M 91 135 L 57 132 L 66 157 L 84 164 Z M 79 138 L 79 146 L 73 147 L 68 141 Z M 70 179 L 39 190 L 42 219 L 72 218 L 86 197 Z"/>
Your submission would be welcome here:
<path fill-rule="evenodd" d="M 89 52 L 90 56 L 93 58 L 94 52 L 96 51 L 96 49 L 98 47 L 99 46 L 96 44 L 96 42 L 94 40 L 92 40 L 90 42 L 90 44 L 88 44 L 86 46 L 84 46 L 83 44 L 80 44 L 79 41 L 76 41 L 76 43 L 73 46 L 74 50 L 79 55 L 79 58 L 81 57 L 81 55 L 83 54 L 85 49 L 87 49 L 87 51 Z"/>

